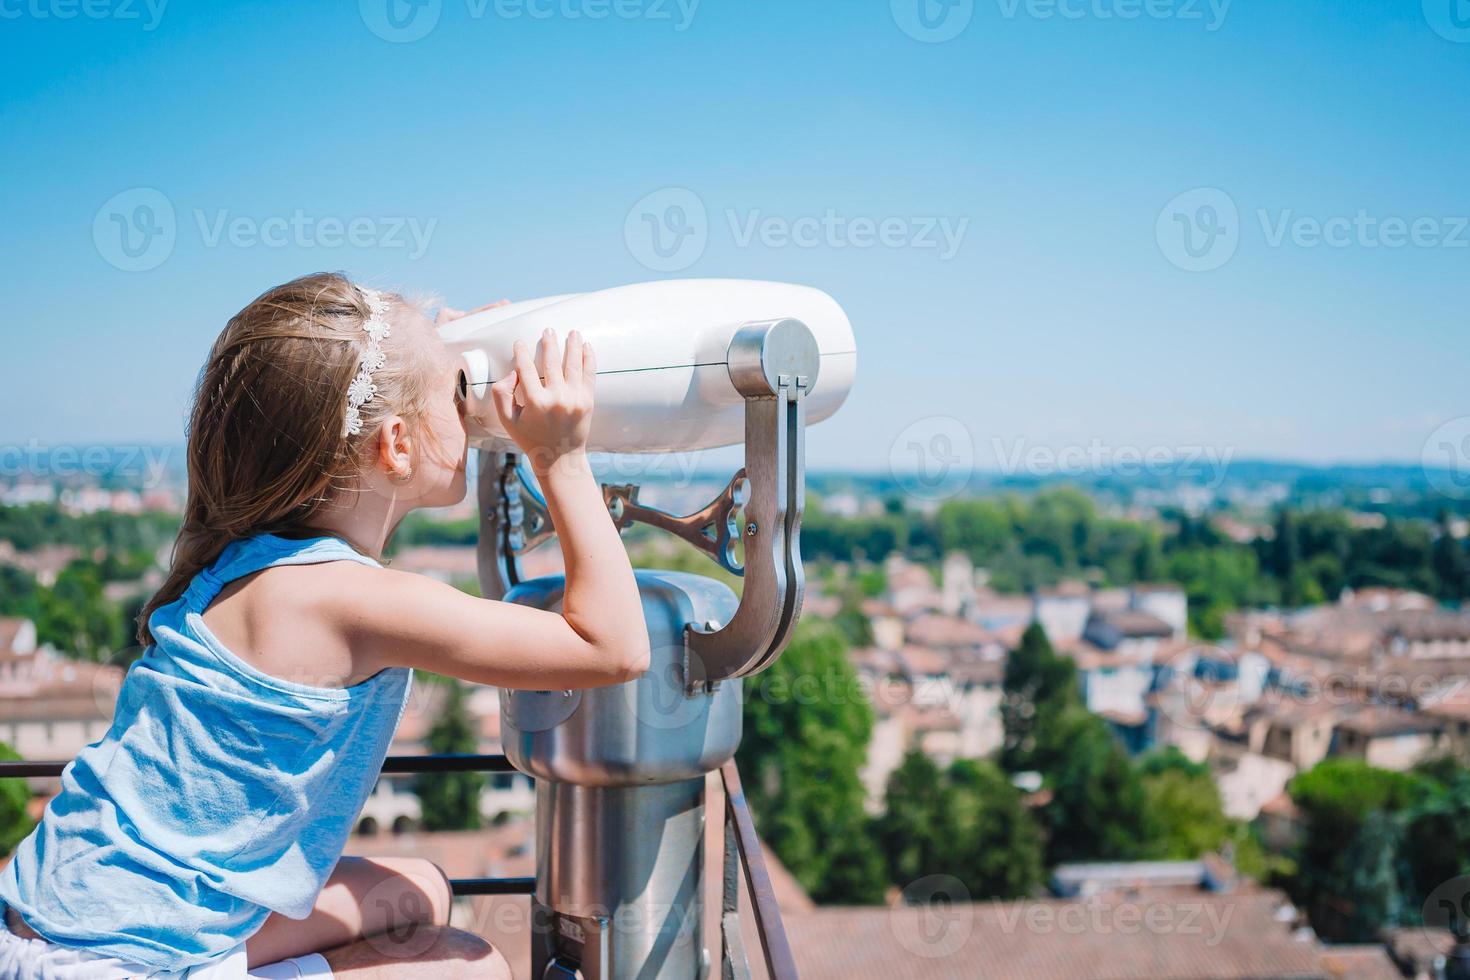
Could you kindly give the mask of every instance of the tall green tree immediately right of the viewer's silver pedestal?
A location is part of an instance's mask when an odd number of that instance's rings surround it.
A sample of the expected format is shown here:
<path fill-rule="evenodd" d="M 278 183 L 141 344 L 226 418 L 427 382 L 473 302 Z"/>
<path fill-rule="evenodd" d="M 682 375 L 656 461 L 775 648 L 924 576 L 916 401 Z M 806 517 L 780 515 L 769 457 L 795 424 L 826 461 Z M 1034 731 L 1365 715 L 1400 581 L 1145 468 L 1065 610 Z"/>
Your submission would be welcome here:
<path fill-rule="evenodd" d="M 756 824 L 820 902 L 878 902 L 886 880 L 858 771 L 873 710 L 831 623 L 801 620 L 776 664 L 747 682 L 736 761 Z"/>

